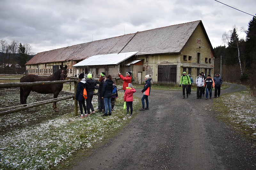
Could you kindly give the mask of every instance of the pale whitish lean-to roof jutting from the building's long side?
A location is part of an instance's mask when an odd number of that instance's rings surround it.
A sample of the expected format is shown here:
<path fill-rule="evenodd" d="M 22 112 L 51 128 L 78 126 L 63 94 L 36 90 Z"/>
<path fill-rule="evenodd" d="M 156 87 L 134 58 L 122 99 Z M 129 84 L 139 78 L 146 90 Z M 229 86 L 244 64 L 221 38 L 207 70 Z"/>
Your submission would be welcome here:
<path fill-rule="evenodd" d="M 73 67 L 81 66 L 92 66 L 92 65 L 111 65 L 119 64 L 130 58 L 131 56 L 137 54 L 138 51 L 126 52 L 126 53 L 114 53 L 114 54 L 103 54 L 103 55 L 93 55 L 79 63 L 73 65 Z"/>

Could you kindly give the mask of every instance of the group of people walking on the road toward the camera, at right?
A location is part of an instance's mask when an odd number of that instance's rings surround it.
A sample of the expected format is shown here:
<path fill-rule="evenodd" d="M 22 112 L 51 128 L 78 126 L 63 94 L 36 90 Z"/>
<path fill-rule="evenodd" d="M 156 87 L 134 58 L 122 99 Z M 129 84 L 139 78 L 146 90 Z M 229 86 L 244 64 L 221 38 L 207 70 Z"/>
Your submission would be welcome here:
<path fill-rule="evenodd" d="M 198 74 L 196 78 L 196 99 L 202 99 L 202 95 L 205 94 L 205 100 L 208 100 L 208 93 L 210 94 L 210 99 L 212 99 L 212 89 L 215 88 L 214 98 L 220 97 L 220 86 L 222 85 L 222 77 L 219 73 L 215 74 L 214 78 L 211 78 L 211 75 L 208 74 L 207 77 L 204 75 L 204 72 Z M 193 84 L 193 78 L 190 75 L 186 75 L 184 71 L 180 78 L 180 87 L 182 85 L 183 99 L 185 98 L 185 89 L 187 98 L 191 93 L 191 85 Z M 190 88 L 189 88 L 190 87 Z M 206 92 L 205 92 L 206 91 Z"/>

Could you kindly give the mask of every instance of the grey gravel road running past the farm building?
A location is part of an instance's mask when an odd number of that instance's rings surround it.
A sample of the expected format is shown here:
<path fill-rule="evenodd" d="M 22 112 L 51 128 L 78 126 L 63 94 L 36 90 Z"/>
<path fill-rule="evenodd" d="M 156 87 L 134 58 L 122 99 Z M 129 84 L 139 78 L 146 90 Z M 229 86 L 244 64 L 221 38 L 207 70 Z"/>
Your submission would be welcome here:
<path fill-rule="evenodd" d="M 221 94 L 242 89 L 230 84 Z M 152 90 L 150 109 L 73 169 L 256 169 L 252 143 L 216 120 L 212 102 Z"/>

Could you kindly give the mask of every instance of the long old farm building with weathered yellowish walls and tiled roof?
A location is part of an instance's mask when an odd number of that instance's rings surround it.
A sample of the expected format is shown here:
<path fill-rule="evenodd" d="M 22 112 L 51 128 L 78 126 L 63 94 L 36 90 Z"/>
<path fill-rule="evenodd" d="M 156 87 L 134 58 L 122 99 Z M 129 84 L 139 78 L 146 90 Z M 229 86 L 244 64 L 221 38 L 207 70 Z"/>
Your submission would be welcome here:
<path fill-rule="evenodd" d="M 26 63 L 26 71 L 51 75 L 66 64 L 68 76 L 132 71 L 134 83 L 152 74 L 153 83 L 177 84 L 183 71 L 194 78 L 202 71 L 213 74 L 215 57 L 198 20 L 41 52 Z"/>

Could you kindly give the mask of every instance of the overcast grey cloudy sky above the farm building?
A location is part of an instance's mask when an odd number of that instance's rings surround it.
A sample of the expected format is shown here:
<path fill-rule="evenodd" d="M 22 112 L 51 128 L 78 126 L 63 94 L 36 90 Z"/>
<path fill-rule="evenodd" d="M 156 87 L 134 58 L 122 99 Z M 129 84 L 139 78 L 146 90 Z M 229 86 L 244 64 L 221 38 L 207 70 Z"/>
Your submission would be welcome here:
<path fill-rule="evenodd" d="M 255 0 L 218 0 L 255 15 Z M 251 15 L 214 0 L 1 0 L 0 39 L 28 43 L 35 53 L 137 31 L 202 20 L 212 47 Z"/>

